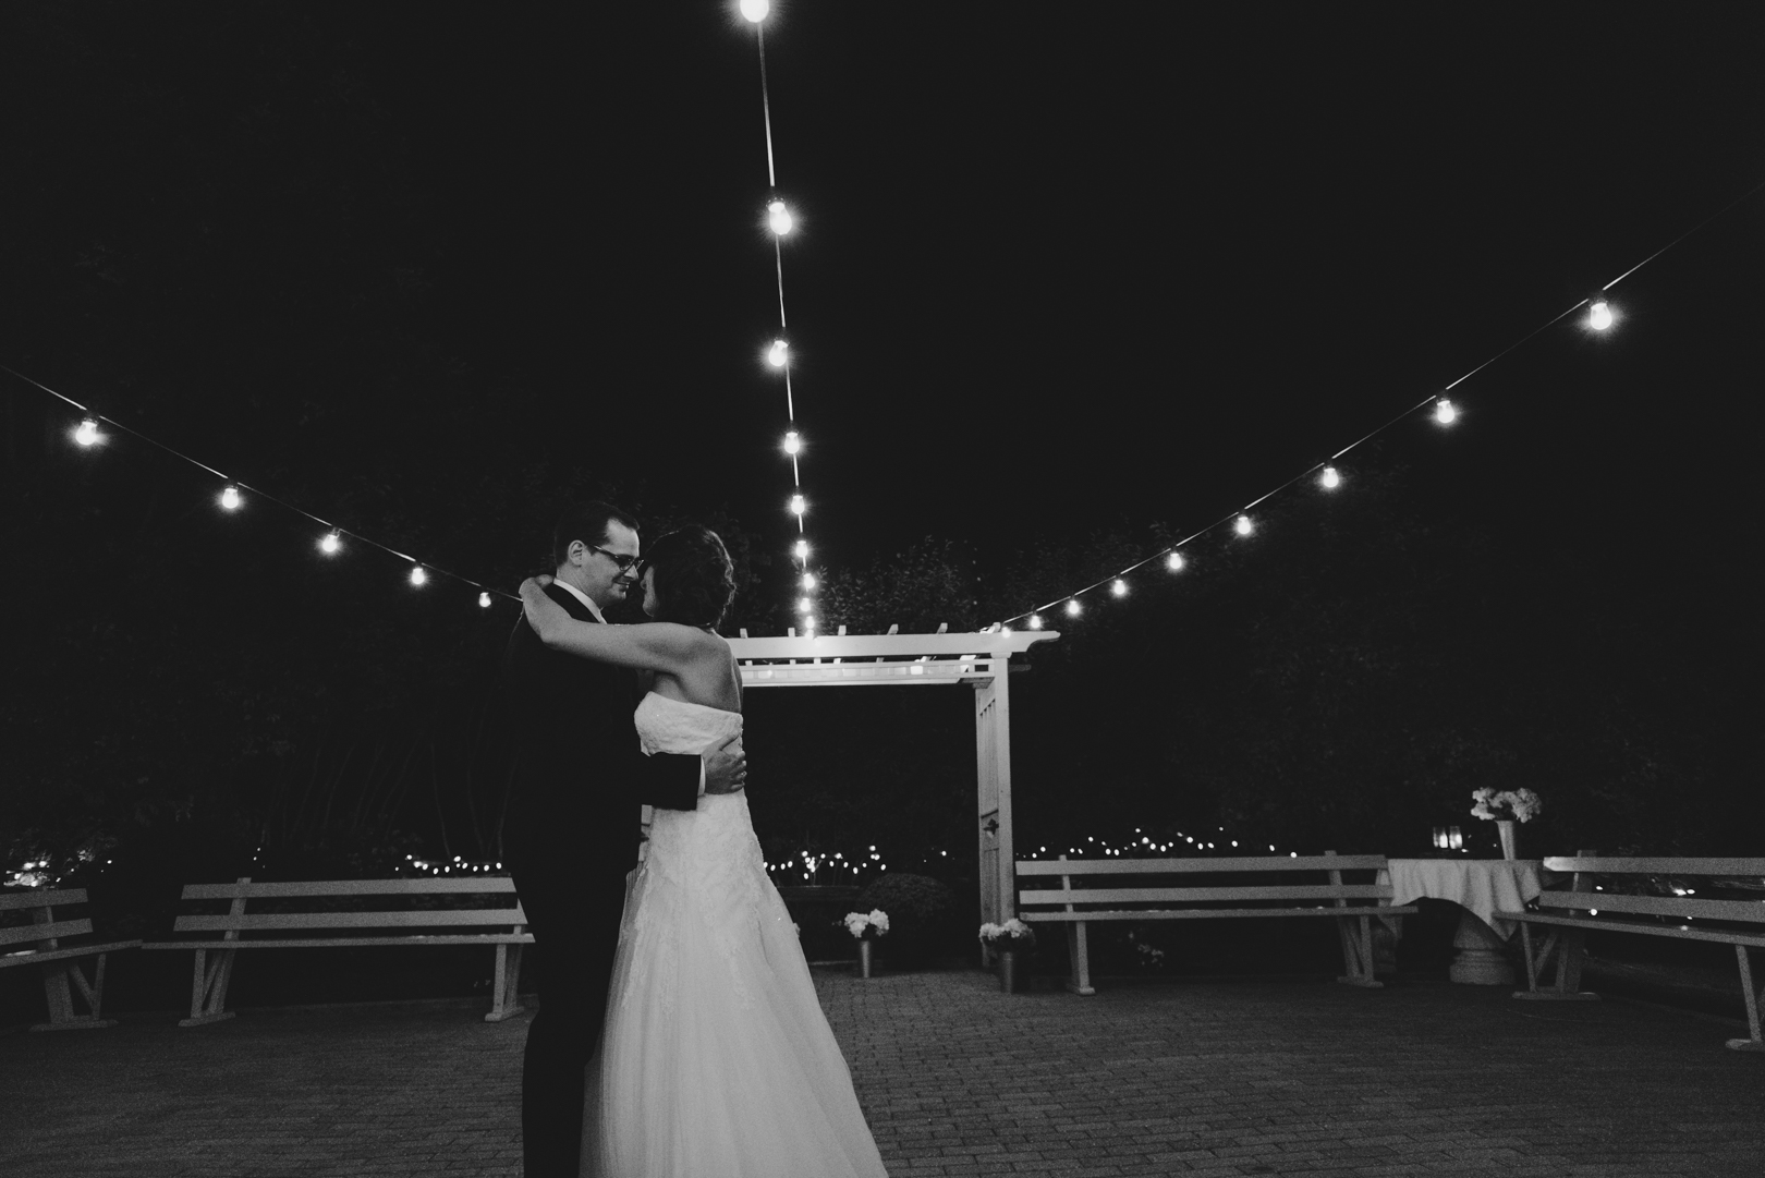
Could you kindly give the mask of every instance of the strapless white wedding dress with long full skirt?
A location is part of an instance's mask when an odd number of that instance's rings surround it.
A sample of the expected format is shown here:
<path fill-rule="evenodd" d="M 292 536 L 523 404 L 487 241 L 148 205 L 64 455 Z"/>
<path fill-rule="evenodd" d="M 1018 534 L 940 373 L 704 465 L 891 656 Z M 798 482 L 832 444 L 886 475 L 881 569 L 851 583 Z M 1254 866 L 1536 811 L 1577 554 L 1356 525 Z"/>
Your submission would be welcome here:
<path fill-rule="evenodd" d="M 635 719 L 646 754 L 741 731 L 736 712 L 655 692 Z M 743 793 L 655 812 L 590 1063 L 582 1173 L 886 1176 Z"/>

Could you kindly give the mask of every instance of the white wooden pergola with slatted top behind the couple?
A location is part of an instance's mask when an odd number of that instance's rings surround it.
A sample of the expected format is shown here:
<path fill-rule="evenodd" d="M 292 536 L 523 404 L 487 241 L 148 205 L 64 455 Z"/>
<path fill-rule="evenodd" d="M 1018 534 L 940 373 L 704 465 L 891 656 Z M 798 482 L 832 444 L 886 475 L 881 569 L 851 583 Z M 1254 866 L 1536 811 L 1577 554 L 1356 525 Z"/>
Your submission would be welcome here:
<path fill-rule="evenodd" d="M 1011 851 L 1011 655 L 1059 638 L 1055 631 L 980 634 L 824 634 L 729 639 L 743 687 L 974 689 L 976 837 L 981 920 L 1015 913 Z"/>

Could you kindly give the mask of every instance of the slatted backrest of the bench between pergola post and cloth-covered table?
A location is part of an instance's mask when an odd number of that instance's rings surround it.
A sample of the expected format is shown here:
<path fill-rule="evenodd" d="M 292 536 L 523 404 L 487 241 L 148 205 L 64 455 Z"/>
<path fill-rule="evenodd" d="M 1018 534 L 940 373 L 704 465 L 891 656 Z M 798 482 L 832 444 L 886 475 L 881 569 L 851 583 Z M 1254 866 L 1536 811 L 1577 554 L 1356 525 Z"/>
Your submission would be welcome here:
<path fill-rule="evenodd" d="M 1054 887 L 1022 888 L 1020 908 L 1075 908 L 1117 904 L 1163 904 L 1183 908 L 1246 908 L 1258 904 L 1350 906 L 1389 904 L 1389 883 L 1343 883 L 1343 871 L 1384 871 L 1384 855 L 1234 855 L 1225 858 L 1025 858 L 1017 862 L 1018 878 L 1054 878 Z M 1075 881 L 1112 876 L 1267 876 L 1271 872 L 1322 872 L 1322 883 L 1232 883 L 1207 880 L 1200 887 L 1075 887 Z"/>

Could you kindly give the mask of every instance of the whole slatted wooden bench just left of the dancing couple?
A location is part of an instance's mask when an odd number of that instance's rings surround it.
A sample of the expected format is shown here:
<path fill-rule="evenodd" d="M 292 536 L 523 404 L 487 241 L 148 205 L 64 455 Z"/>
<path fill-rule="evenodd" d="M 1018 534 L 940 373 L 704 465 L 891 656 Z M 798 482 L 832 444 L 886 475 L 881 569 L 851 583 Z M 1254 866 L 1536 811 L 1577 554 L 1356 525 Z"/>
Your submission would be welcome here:
<path fill-rule="evenodd" d="M 348 897 L 344 906 L 337 904 L 339 897 Z M 484 1021 L 501 1023 L 521 1014 L 515 993 L 521 980 L 521 947 L 531 945 L 533 934 L 526 931 L 528 917 L 515 899 L 515 881 L 507 876 L 309 883 L 252 883 L 251 876 L 242 876 L 238 883 L 189 883 L 184 887 L 184 899 L 205 904 L 226 901 L 228 910 L 176 918 L 173 933 L 203 936 L 143 945 L 143 948 L 196 950 L 191 1017 L 182 1019 L 178 1026 L 201 1026 L 233 1017 L 226 1008 L 226 991 L 233 978 L 233 959 L 242 948 L 492 945 L 496 982 L 491 1012 Z M 457 902 L 485 899 L 503 906 Z M 261 901 L 274 904 L 268 911 L 245 910 L 247 904 Z M 385 901 L 406 901 L 406 906 L 365 908 L 367 902 Z M 425 902 L 427 908 L 422 906 Z M 316 906 L 321 911 L 311 911 Z"/>

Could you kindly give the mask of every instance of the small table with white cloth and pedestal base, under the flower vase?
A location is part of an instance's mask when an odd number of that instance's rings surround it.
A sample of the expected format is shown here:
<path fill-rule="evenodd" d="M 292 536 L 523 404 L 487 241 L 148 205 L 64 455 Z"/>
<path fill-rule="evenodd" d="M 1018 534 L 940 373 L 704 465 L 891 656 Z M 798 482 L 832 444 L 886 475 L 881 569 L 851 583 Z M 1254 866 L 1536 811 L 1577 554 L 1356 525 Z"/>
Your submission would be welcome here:
<path fill-rule="evenodd" d="M 1453 934 L 1447 975 L 1467 985 L 1513 985 L 1507 938 L 1518 927 L 1497 920 L 1498 911 L 1520 911 L 1544 890 L 1536 858 L 1393 858 L 1380 872 L 1391 883 L 1393 906 L 1419 899 L 1453 901 L 1465 910 Z"/>

